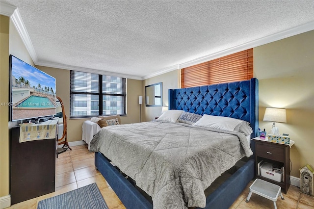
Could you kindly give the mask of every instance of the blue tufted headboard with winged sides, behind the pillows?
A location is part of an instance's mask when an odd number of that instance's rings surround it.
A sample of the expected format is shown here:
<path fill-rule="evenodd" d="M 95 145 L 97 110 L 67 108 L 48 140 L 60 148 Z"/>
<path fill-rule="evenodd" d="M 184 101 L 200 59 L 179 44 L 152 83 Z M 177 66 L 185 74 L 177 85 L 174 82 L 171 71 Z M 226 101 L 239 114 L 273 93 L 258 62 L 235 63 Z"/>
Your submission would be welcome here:
<path fill-rule="evenodd" d="M 169 109 L 241 119 L 259 128 L 259 81 L 251 80 L 169 89 Z M 251 146 L 252 147 L 252 146 Z"/>

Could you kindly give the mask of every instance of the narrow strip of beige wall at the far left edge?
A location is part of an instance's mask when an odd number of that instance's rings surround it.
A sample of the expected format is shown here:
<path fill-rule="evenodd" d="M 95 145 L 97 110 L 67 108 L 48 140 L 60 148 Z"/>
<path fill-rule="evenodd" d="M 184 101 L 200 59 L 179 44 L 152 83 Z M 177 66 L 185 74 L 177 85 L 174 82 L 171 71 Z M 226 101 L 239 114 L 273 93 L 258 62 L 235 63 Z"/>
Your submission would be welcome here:
<path fill-rule="evenodd" d="M 9 102 L 9 21 L 0 15 L 0 103 Z M 0 197 L 9 194 L 9 109 L 0 105 Z"/>

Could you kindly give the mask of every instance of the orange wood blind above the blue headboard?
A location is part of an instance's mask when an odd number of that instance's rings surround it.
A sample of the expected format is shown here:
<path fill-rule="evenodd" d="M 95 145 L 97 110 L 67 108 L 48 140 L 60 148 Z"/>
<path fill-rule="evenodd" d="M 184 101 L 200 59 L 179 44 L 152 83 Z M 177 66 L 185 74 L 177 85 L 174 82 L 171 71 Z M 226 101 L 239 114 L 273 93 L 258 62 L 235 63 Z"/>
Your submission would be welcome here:
<path fill-rule="evenodd" d="M 253 49 L 181 69 L 181 88 L 253 78 Z"/>

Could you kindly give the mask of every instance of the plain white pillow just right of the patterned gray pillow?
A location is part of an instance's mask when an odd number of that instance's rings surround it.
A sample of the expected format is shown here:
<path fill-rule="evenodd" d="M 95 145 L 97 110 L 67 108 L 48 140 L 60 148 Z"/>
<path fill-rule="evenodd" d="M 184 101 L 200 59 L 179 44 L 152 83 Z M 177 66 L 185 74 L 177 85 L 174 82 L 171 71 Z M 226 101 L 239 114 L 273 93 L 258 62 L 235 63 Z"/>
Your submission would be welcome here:
<path fill-rule="evenodd" d="M 225 131 L 239 131 L 238 125 L 241 122 L 243 121 L 235 118 L 205 114 L 194 124 L 194 126 L 202 126 Z"/>

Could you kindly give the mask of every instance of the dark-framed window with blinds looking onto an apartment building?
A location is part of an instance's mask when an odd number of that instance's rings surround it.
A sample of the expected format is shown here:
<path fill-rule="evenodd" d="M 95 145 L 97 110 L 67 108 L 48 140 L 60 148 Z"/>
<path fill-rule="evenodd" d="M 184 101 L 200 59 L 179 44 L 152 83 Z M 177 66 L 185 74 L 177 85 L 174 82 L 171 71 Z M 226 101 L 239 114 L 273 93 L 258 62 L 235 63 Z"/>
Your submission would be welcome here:
<path fill-rule="evenodd" d="M 70 118 L 126 114 L 126 78 L 71 71 Z"/>

